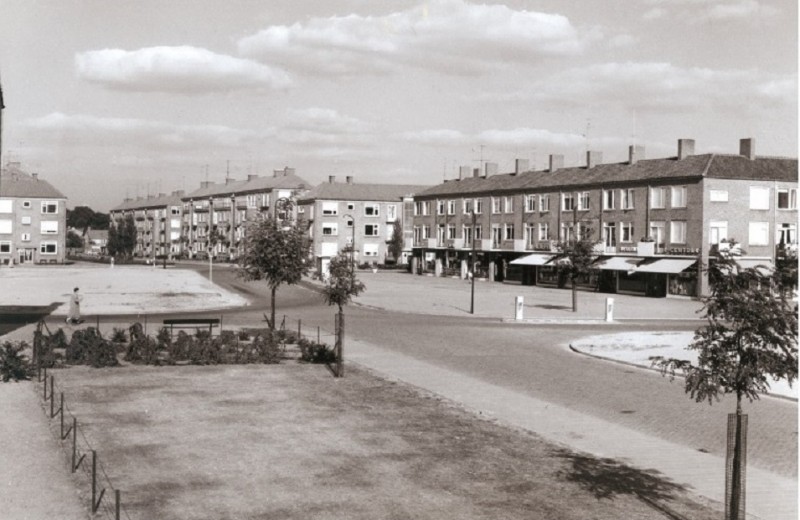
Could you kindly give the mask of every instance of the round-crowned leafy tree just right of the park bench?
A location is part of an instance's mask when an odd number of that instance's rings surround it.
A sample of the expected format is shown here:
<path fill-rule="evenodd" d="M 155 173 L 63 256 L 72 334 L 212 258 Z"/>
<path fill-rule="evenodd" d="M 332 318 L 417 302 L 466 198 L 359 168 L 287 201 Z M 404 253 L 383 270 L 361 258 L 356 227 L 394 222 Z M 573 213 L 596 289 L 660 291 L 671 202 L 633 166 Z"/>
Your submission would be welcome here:
<path fill-rule="evenodd" d="M 275 329 L 275 293 L 283 284 L 299 283 L 308 274 L 308 240 L 296 226 L 282 227 L 275 219 L 252 223 L 247 228 L 239 257 L 239 275 L 245 280 L 264 280 L 271 291 L 267 320 Z"/>

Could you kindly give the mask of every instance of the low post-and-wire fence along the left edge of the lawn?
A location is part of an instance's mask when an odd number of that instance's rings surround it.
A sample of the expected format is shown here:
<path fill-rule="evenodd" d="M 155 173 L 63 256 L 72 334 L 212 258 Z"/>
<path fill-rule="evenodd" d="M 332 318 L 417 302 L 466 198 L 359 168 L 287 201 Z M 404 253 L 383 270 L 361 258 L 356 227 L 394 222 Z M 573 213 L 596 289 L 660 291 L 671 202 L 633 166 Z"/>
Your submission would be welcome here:
<path fill-rule="evenodd" d="M 43 408 L 48 418 L 52 420 L 59 417 L 61 420 L 59 438 L 62 445 L 65 444 L 65 441 L 69 443 L 70 470 L 72 473 L 80 471 L 91 484 L 92 514 L 114 520 L 122 518 L 130 520 L 128 512 L 122 506 L 122 492 L 112 484 L 97 455 L 97 450 L 87 438 L 75 414 L 67 406 L 64 391 L 57 385 L 52 372 L 48 375 L 47 368 L 37 368 L 36 379 L 42 383 Z M 56 395 L 58 395 L 57 405 Z M 68 438 L 69 440 L 67 440 Z M 87 460 L 87 455 L 90 460 Z"/>

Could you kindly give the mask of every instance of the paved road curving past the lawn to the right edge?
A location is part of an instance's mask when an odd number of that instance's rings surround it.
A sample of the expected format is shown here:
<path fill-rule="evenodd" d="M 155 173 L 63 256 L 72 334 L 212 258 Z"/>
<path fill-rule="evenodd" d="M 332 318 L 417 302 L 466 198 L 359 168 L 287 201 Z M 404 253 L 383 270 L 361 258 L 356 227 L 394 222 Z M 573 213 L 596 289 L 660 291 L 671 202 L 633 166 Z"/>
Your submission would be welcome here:
<path fill-rule="evenodd" d="M 227 268 L 214 281 L 250 298 L 248 310 L 226 312 L 228 324 L 253 325 L 269 311 L 263 282 L 244 282 Z M 651 302 L 648 302 L 651 303 Z M 657 304 L 657 302 L 652 302 Z M 278 291 L 277 315 L 288 327 L 333 330 L 334 308 L 304 287 Z M 213 314 L 213 313 L 211 313 Z M 697 322 L 597 326 L 504 324 L 494 319 L 396 313 L 359 306 L 347 311 L 347 334 L 382 348 L 526 393 L 572 410 L 697 450 L 724 456 L 727 414 L 734 399 L 695 403 L 683 381 L 654 371 L 576 354 L 571 340 L 602 332 L 692 330 Z M 765 397 L 745 404 L 749 414 L 748 464 L 796 478 L 797 403 Z M 590 434 L 591 432 L 587 432 Z"/>

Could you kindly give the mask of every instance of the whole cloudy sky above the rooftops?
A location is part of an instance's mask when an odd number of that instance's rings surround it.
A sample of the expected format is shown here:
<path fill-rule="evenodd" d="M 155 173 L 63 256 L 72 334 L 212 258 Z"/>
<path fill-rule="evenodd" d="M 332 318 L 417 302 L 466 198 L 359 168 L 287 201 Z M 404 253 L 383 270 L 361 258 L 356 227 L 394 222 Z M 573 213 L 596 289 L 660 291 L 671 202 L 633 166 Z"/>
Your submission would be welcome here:
<path fill-rule="evenodd" d="M 796 0 L 2 0 L 3 163 L 69 205 L 291 166 L 797 156 Z"/>

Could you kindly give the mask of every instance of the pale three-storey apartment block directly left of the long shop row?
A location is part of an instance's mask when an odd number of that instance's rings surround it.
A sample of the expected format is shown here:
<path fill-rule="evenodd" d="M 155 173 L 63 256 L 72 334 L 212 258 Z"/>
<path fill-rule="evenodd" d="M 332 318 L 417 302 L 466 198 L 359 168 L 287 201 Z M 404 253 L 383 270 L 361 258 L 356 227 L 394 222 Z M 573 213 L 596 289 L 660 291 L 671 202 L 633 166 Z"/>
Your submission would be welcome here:
<path fill-rule="evenodd" d="M 331 175 L 298 201 L 299 222 L 308 229 L 311 255 L 319 272 L 327 272 L 330 259 L 345 248 L 353 248 L 358 263 L 407 263 L 411 254 L 413 196 L 428 188 L 399 184 L 359 184 L 348 176 L 336 182 Z M 391 258 L 387 243 L 403 230 L 400 258 Z"/>

